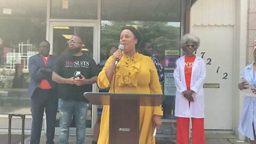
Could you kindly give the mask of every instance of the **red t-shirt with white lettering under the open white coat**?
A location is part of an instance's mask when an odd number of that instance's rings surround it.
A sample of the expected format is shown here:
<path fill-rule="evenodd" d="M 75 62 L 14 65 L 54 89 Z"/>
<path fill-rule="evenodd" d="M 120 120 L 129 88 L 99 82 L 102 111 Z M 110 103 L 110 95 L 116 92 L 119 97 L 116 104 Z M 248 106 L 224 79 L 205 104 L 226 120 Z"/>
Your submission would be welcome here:
<path fill-rule="evenodd" d="M 192 67 L 194 65 L 194 61 L 196 59 L 196 56 L 188 57 L 185 55 L 185 79 L 186 79 L 186 86 L 187 90 L 190 90 L 190 81 L 191 81 L 191 74 L 192 74 Z"/>

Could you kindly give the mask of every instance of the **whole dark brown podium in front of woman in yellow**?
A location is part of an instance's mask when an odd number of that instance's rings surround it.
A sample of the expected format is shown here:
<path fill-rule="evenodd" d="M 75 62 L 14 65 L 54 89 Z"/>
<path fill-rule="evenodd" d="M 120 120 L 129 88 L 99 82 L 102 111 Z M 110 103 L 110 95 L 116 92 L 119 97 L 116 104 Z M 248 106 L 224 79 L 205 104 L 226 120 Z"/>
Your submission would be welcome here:
<path fill-rule="evenodd" d="M 92 93 L 93 105 L 109 105 L 109 144 L 139 144 L 140 106 L 160 106 L 163 94 Z"/>

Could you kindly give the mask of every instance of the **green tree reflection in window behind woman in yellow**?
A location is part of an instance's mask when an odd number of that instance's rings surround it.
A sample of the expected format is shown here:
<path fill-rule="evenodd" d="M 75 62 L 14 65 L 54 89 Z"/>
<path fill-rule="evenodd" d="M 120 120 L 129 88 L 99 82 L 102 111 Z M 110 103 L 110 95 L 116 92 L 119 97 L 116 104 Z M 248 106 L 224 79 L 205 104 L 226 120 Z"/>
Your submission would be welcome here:
<path fill-rule="evenodd" d="M 164 59 L 165 50 L 179 50 L 180 28 L 168 22 L 107 21 L 101 26 L 101 55 L 105 55 L 109 45 L 119 45 L 121 29 L 126 25 L 137 25 L 142 39 L 148 39 L 155 45 L 160 60 Z"/>

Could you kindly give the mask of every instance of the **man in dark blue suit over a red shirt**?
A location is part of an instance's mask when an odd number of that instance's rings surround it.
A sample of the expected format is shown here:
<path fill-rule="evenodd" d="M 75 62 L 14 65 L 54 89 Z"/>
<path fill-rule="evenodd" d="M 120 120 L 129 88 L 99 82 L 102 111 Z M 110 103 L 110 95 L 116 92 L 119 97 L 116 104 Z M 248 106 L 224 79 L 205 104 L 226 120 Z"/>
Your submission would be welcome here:
<path fill-rule="evenodd" d="M 30 143 L 39 144 L 43 123 L 44 109 L 46 114 L 47 144 L 52 144 L 55 132 L 55 119 L 58 108 L 57 84 L 52 81 L 52 68 L 57 57 L 50 55 L 50 43 L 43 41 L 39 44 L 39 54 L 29 58 L 29 89 L 31 98 L 31 140 Z"/>

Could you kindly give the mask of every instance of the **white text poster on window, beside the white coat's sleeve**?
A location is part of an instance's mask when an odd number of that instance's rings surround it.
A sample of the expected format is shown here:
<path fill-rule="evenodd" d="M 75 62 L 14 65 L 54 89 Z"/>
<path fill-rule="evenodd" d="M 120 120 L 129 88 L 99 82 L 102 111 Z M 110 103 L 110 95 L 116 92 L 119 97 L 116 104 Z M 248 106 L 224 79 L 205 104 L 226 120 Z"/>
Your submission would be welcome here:
<path fill-rule="evenodd" d="M 173 73 L 164 73 L 164 95 L 175 95 L 175 91 Z"/>

